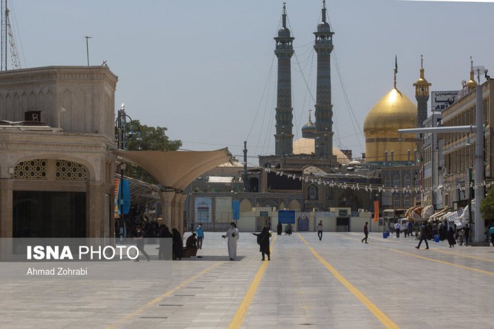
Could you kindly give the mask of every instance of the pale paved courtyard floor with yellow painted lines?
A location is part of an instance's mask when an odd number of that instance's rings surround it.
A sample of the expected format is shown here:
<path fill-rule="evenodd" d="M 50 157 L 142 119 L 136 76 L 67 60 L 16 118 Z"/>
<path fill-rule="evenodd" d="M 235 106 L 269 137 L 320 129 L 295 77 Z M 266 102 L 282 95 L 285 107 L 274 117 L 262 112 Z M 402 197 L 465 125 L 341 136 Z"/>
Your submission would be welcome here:
<path fill-rule="evenodd" d="M 221 234 L 207 232 L 202 258 L 160 261 L 148 245 L 149 263 L 78 264 L 88 267 L 80 278 L 0 263 L 0 328 L 493 328 L 494 247 L 360 239 L 274 236 L 261 262 L 255 236 L 241 232 L 232 262 Z"/>

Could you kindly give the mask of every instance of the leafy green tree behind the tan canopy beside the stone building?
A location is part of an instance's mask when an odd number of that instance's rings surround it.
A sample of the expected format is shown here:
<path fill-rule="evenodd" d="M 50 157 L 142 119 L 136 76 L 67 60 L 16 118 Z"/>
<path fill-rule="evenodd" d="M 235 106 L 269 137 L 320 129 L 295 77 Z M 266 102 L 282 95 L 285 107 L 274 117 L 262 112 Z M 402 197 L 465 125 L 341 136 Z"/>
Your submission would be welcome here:
<path fill-rule="evenodd" d="M 131 151 L 143 150 L 143 151 L 176 151 L 182 146 L 182 141 L 180 140 L 170 140 L 166 135 L 166 127 L 150 127 L 148 125 L 141 125 L 139 120 L 134 120 L 141 129 L 141 140 L 137 138 L 136 125 L 132 125 L 133 132 L 132 136 L 128 137 L 127 149 Z M 130 125 L 127 127 L 127 132 L 130 132 Z M 125 175 L 135 178 L 137 180 L 142 180 L 143 182 L 148 182 L 151 184 L 158 184 L 156 180 L 145 171 L 143 168 L 136 166 L 135 164 L 130 164 L 127 166 Z"/>

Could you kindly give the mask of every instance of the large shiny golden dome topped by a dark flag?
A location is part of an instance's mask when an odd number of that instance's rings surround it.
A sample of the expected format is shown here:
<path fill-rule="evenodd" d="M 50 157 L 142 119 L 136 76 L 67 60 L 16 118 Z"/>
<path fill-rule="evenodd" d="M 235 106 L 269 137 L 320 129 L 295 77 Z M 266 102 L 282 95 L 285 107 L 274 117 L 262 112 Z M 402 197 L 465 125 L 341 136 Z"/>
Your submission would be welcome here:
<path fill-rule="evenodd" d="M 386 137 L 390 133 L 397 134 L 399 129 L 416 128 L 416 120 L 416 105 L 397 88 L 393 88 L 368 112 L 364 121 L 364 134 L 366 138 Z"/>

